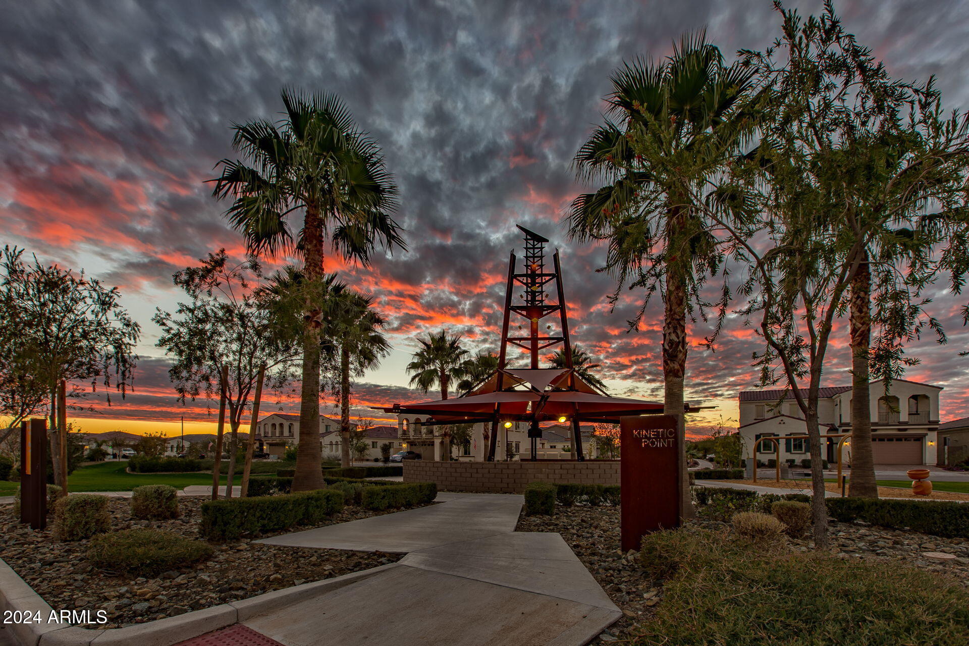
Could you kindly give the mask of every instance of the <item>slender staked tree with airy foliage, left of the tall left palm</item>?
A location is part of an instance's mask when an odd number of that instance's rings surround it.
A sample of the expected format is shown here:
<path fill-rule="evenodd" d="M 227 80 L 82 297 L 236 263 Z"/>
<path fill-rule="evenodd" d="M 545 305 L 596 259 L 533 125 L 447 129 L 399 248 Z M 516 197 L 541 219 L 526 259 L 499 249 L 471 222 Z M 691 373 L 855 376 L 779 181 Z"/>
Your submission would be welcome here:
<path fill-rule="evenodd" d="M 225 249 L 220 249 L 201 265 L 174 274 L 174 285 L 191 300 L 178 303 L 174 315 L 158 309 L 152 319 L 162 328 L 155 345 L 174 359 L 169 376 L 180 402 L 199 397 L 217 400 L 222 369 L 229 368 L 229 482 L 235 469 L 238 427 L 256 387 L 260 366 L 266 365 L 266 387 L 278 389 L 295 377 L 294 365 L 300 352 L 296 330 L 277 324 L 255 289 L 253 281 L 261 276 L 256 261 L 233 264 Z"/>

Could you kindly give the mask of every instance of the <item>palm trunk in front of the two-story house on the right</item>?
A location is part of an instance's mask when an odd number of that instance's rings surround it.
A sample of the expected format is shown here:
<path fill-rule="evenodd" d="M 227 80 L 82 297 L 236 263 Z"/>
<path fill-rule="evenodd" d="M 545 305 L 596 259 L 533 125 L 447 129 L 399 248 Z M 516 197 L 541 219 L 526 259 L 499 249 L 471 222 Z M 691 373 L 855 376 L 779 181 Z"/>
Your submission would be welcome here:
<path fill-rule="evenodd" d="M 871 272 L 867 254 L 851 281 L 851 488 L 858 498 L 878 498 L 871 450 L 871 397 L 868 354 L 871 345 Z"/>

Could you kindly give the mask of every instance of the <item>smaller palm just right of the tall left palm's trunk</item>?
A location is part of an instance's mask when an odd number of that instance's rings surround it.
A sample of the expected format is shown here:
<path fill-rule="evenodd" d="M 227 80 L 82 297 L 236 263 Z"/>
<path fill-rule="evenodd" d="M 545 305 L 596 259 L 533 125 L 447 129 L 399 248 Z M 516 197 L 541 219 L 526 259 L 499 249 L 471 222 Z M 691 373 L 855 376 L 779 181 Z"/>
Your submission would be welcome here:
<path fill-rule="evenodd" d="M 340 460 L 350 466 L 350 377 L 380 365 L 391 352 L 384 336 L 387 319 L 373 308 L 373 296 L 342 292 L 325 306 L 323 347 L 339 355 Z"/>

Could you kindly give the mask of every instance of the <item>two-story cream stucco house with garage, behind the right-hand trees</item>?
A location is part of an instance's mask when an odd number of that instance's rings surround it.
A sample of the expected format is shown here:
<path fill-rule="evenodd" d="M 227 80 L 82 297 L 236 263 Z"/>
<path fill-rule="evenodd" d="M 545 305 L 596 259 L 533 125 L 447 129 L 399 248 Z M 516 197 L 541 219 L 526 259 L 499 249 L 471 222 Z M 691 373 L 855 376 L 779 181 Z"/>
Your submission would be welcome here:
<path fill-rule="evenodd" d="M 939 430 L 939 392 L 942 386 L 919 384 L 905 380 L 891 382 L 885 394 L 883 380 L 870 385 L 872 453 L 875 464 L 935 465 L 939 461 L 937 433 Z M 818 420 L 821 433 L 851 432 L 850 385 L 821 388 L 818 401 Z M 754 443 L 762 437 L 806 435 L 803 415 L 790 390 L 743 390 L 739 394 L 739 432 L 744 443 L 744 457 L 751 453 Z M 837 459 L 837 440 L 822 439 L 822 456 L 828 462 Z M 844 460 L 851 460 L 850 445 Z M 758 446 L 757 459 L 765 461 L 775 456 L 772 442 Z M 795 460 L 798 464 L 810 457 L 807 440 L 791 439 L 781 442 L 781 461 Z"/>

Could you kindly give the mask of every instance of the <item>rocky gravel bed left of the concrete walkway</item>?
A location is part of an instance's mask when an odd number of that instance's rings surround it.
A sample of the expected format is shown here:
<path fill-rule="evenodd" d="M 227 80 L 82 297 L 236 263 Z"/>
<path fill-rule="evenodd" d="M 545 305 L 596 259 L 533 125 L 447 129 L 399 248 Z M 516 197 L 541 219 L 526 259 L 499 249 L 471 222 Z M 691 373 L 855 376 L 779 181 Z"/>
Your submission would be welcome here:
<path fill-rule="evenodd" d="M 152 527 L 198 538 L 203 502 L 203 498 L 179 498 L 180 518 L 145 521 L 131 517 L 127 500 L 111 500 L 111 530 Z M 348 507 L 313 527 L 398 510 Z M 294 528 L 303 529 L 309 527 Z M 213 543 L 216 551 L 212 558 L 194 567 L 164 572 L 154 579 L 132 579 L 94 569 L 86 558 L 87 543 L 87 540 L 58 542 L 52 538 L 49 526 L 43 532 L 33 532 L 27 525 L 16 522 L 12 506 L 0 507 L 0 558 L 55 610 L 106 610 L 109 623 L 91 628 L 121 628 L 172 617 L 309 581 L 376 568 L 400 558 L 398 554 L 305 549 L 241 539 Z"/>

